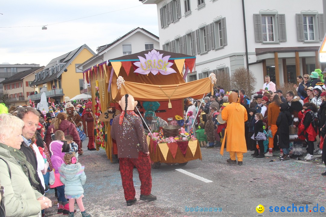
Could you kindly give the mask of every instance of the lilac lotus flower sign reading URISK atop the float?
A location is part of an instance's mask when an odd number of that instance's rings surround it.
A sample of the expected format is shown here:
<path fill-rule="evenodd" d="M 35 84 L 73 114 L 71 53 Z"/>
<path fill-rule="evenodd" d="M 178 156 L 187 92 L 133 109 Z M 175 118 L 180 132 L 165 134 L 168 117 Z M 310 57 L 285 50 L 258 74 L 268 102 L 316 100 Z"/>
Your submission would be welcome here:
<path fill-rule="evenodd" d="M 139 67 L 134 71 L 134 73 L 139 73 L 142 75 L 148 75 L 152 73 L 156 75 L 161 73 L 162 75 L 169 75 L 172 73 L 177 73 L 174 69 L 171 68 L 173 65 L 172 62 L 169 62 L 170 56 L 163 57 L 163 54 L 160 54 L 156 50 L 152 50 L 145 54 L 145 58 L 138 56 L 139 62 L 135 62 L 134 65 Z"/>

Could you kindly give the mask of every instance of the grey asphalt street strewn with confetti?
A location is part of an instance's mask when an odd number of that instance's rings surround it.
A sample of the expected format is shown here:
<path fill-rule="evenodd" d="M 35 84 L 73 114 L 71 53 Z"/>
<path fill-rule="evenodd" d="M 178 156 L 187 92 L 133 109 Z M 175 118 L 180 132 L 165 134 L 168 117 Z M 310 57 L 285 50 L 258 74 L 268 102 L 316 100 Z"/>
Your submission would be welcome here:
<path fill-rule="evenodd" d="M 87 141 L 83 144 L 86 147 Z M 326 207 L 326 177 L 321 176 L 325 166 L 321 160 L 280 161 L 276 156 L 257 159 L 250 156 L 252 152 L 248 152 L 244 154 L 243 165 L 239 166 L 228 164 L 228 152 L 221 156 L 219 148 L 201 148 L 201 151 L 202 161 L 189 161 L 185 166 L 162 164 L 159 169 L 152 169 L 152 194 L 157 196 L 157 200 L 138 200 L 127 207 L 118 163 L 111 163 L 104 149 L 87 151 L 84 148 L 84 155 L 79 159 L 85 166 L 87 176 L 83 198 L 86 211 L 93 217 L 240 217 L 257 216 L 256 207 L 261 204 L 265 208 L 264 216 L 326 216 L 325 212 L 320 212 L 321 207 Z M 270 162 L 273 159 L 276 161 Z M 176 169 L 200 176 L 206 182 Z M 136 198 L 139 199 L 140 181 L 136 169 L 133 180 Z M 53 190 L 47 193 L 47 197 L 56 201 Z M 292 212 L 292 203 L 297 207 L 297 212 Z M 317 204 L 319 212 L 314 212 Z M 284 206 L 285 212 L 275 212 L 276 206 Z M 290 212 L 286 210 L 288 206 Z M 300 212 L 300 206 L 304 207 L 304 212 Z M 270 212 L 270 207 L 273 212 Z M 207 208 L 207 211 L 196 211 L 201 208 Z M 75 209 L 75 216 L 80 217 L 77 204 Z M 46 210 L 46 216 L 59 216 L 56 210 L 56 207 Z"/>

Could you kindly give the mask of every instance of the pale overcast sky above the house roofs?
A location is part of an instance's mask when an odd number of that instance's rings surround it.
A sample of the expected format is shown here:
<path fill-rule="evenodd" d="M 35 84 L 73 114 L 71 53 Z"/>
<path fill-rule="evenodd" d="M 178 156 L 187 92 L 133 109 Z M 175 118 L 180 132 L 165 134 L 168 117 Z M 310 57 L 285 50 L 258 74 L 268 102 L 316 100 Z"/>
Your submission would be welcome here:
<path fill-rule="evenodd" d="M 158 36 L 156 5 L 138 0 L 11 0 L 0 5 L 0 27 L 37 26 L 0 28 L 0 63 L 45 66 L 83 44 L 96 53 L 96 47 L 137 27 Z"/>

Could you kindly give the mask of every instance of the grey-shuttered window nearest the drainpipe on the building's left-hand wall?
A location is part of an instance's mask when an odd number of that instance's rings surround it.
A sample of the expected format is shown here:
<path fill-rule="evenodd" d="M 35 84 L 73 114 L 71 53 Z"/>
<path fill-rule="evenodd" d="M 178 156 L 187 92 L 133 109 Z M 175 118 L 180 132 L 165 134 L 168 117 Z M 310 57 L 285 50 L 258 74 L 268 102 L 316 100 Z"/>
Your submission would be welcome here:
<path fill-rule="evenodd" d="M 228 45 L 225 18 L 222 18 L 220 20 L 215 21 L 214 23 L 211 23 L 210 32 L 212 35 L 211 38 L 212 49 L 219 49 Z"/>

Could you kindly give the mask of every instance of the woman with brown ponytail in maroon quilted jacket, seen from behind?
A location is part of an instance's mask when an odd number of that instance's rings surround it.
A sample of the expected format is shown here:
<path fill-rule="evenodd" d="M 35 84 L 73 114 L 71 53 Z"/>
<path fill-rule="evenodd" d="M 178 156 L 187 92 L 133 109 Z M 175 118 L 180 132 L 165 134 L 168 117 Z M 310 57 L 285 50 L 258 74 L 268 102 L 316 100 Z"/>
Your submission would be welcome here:
<path fill-rule="evenodd" d="M 61 130 L 64 132 L 65 136 L 72 135 L 74 142 L 78 145 L 78 154 L 82 155 L 82 150 L 80 148 L 81 140 L 79 138 L 79 134 L 74 124 L 70 121 L 67 121 L 67 114 L 64 112 L 60 112 L 57 117 L 52 120 L 54 122 L 53 125 L 50 125 L 45 137 L 45 143 L 49 148 L 50 143 L 52 142 L 51 139 L 51 129 L 53 128 L 53 133 L 57 130 Z"/>

